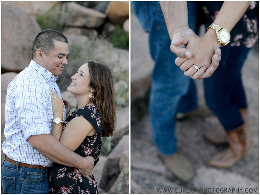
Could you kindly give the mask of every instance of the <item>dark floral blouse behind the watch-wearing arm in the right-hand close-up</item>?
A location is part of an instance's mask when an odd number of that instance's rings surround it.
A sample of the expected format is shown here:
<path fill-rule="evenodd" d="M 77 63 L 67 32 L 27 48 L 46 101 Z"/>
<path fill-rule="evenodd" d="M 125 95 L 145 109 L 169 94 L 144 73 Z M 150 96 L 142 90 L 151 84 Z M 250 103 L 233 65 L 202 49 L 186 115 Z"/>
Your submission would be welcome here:
<path fill-rule="evenodd" d="M 258 40 L 258 1 L 252 1 L 243 17 L 230 31 L 230 46 L 244 45 L 246 48 L 253 47 Z M 198 2 L 197 26 L 204 23 L 207 27 L 216 19 L 223 1 Z M 232 9 L 232 8 L 230 8 Z"/>

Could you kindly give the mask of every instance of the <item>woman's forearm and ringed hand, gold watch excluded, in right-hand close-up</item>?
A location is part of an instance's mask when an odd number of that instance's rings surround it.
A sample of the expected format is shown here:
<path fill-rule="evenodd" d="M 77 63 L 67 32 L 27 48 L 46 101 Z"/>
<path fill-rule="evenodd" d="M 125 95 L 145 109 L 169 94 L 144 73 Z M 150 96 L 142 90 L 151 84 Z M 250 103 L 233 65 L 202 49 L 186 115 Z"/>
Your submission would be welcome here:
<path fill-rule="evenodd" d="M 231 31 L 249 4 L 250 2 L 224 2 L 214 23 Z M 210 67 L 214 51 L 221 45 L 217 41 L 216 31 L 210 28 L 202 38 L 188 36 L 185 38 L 189 40 L 186 49 L 191 51 L 192 57 L 190 59 L 177 57 L 175 62 L 181 70 L 185 71 L 186 76 L 192 76 L 193 79 L 203 79 L 200 76 Z M 192 64 L 197 65 L 200 70 L 191 68 Z"/>

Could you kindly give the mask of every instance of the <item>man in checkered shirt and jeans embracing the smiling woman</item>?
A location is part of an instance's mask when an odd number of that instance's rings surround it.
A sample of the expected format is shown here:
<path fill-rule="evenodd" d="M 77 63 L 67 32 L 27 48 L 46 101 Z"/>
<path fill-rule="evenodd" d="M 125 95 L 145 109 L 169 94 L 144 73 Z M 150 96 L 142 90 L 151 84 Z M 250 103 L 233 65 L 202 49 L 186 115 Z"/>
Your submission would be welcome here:
<path fill-rule="evenodd" d="M 53 111 L 49 88 L 59 96 L 56 80 L 67 64 L 67 38 L 43 30 L 35 38 L 33 60 L 8 85 L 5 105 L 6 154 L 2 165 L 4 193 L 49 193 L 52 162 L 76 167 L 89 180 L 92 157 L 83 158 L 51 136 Z M 66 108 L 63 120 L 66 119 Z"/>

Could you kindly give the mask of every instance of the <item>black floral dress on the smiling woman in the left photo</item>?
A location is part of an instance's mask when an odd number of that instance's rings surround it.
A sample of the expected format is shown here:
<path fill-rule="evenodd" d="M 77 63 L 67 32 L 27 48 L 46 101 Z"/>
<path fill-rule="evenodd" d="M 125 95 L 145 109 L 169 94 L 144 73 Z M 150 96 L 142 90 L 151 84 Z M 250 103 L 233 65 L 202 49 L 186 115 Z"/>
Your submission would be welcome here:
<path fill-rule="evenodd" d="M 94 166 L 99 160 L 101 144 L 102 144 L 102 122 L 99 111 L 96 106 L 88 105 L 75 110 L 71 113 L 63 125 L 63 130 L 70 120 L 75 117 L 83 117 L 88 120 L 96 129 L 96 135 L 87 136 L 82 144 L 75 150 L 75 153 L 87 157 L 91 156 L 95 159 Z M 50 174 L 49 192 L 50 193 L 98 193 L 97 183 L 92 175 L 92 182 L 86 177 L 81 176 L 79 170 L 75 167 L 67 167 L 58 163 L 53 163 L 53 169 Z"/>

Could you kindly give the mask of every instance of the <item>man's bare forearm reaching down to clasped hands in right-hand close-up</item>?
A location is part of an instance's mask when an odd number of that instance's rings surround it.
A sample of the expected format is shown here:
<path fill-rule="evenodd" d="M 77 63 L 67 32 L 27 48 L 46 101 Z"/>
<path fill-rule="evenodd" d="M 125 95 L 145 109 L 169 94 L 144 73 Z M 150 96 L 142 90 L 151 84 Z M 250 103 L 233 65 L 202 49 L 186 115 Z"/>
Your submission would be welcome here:
<path fill-rule="evenodd" d="M 186 1 L 160 1 L 161 10 L 170 38 L 181 28 L 189 28 L 188 8 Z"/>

